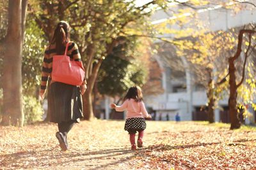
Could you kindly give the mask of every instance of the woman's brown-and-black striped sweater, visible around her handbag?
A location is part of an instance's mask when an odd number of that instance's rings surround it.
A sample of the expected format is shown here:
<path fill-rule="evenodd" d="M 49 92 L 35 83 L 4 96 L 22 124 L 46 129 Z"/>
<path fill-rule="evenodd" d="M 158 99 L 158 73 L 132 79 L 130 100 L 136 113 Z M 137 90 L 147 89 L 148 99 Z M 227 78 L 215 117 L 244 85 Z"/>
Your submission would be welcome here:
<path fill-rule="evenodd" d="M 44 52 L 44 61 L 42 64 L 42 81 L 41 81 L 41 92 L 45 92 L 45 89 L 47 87 L 47 81 L 49 78 L 51 78 L 52 73 L 52 56 L 56 55 L 56 45 L 47 46 Z M 64 49 L 65 50 L 65 49 Z M 63 54 L 64 54 L 63 50 Z M 81 61 L 81 55 L 79 53 L 78 47 L 76 43 L 70 42 L 68 44 L 68 51 L 67 55 L 74 60 Z M 51 81 L 52 83 L 53 81 Z M 86 81 L 84 80 L 83 84 L 86 84 Z"/>

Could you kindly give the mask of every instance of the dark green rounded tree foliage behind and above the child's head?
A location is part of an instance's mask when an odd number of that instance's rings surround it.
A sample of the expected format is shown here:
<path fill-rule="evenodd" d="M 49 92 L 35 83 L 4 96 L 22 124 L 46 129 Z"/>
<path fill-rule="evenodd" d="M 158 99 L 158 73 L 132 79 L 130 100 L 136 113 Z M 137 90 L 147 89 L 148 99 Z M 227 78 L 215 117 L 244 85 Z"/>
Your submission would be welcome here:
<path fill-rule="evenodd" d="M 122 43 L 102 62 L 97 83 L 100 94 L 122 96 L 132 85 L 145 83 L 147 69 L 140 60 L 129 56 L 134 46 L 131 41 Z"/>

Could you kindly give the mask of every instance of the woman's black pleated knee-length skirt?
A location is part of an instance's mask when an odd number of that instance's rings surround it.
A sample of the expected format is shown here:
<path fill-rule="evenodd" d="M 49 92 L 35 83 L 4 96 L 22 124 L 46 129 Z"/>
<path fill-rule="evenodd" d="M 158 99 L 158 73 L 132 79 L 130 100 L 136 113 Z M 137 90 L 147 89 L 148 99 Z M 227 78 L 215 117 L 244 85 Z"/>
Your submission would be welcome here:
<path fill-rule="evenodd" d="M 83 117 L 80 88 L 60 82 L 52 83 L 48 93 L 48 114 L 50 122 L 79 122 Z"/>

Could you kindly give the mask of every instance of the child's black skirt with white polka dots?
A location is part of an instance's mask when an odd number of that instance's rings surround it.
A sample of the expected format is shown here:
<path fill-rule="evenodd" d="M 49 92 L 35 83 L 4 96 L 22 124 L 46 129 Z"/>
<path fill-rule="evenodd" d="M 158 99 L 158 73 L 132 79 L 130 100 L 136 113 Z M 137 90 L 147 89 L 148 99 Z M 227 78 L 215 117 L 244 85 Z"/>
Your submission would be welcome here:
<path fill-rule="evenodd" d="M 131 129 L 146 129 L 146 122 L 144 118 L 127 118 L 124 125 L 124 130 L 128 131 Z"/>

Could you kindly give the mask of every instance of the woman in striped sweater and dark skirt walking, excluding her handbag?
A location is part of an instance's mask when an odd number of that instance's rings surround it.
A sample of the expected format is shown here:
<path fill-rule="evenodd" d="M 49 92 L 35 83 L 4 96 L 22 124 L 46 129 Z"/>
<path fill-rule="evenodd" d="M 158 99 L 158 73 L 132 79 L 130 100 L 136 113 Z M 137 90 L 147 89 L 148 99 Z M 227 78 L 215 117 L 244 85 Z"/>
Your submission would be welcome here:
<path fill-rule="evenodd" d="M 51 43 L 45 50 L 40 90 L 40 97 L 44 99 L 47 81 L 51 82 L 48 88 L 48 116 L 50 122 L 58 123 L 59 132 L 56 132 L 56 138 L 60 142 L 63 151 L 68 149 L 68 132 L 83 117 L 81 94 L 83 95 L 86 90 L 85 80 L 80 87 L 51 81 L 52 56 L 63 55 L 67 43 L 67 55 L 71 59 L 81 61 L 76 43 L 70 41 L 69 29 L 70 27 L 65 21 L 59 22 L 56 26 Z"/>

